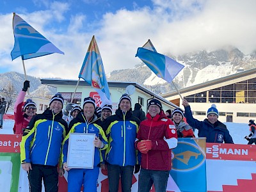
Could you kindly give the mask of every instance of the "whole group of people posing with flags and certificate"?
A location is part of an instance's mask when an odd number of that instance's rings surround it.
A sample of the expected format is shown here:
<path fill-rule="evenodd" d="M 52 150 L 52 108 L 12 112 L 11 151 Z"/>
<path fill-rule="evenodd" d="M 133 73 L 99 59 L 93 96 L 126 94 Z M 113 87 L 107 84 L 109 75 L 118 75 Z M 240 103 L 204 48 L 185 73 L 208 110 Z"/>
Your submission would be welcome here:
<path fill-rule="evenodd" d="M 20 161 L 28 172 L 30 191 L 58 191 L 58 175 L 68 172 L 68 191 L 97 191 L 99 168 L 108 170 L 109 191 L 118 191 L 119 180 L 123 192 L 131 191 L 132 176 L 139 174 L 138 191 L 166 191 L 172 168 L 172 148 L 178 137 L 193 138 L 192 127 L 207 142 L 234 143 L 227 127 L 218 121 L 218 110 L 212 106 L 207 118 L 193 118 L 188 101 L 185 108 L 177 108 L 166 115 L 160 100 L 151 99 L 147 115 L 140 104 L 132 111 L 132 100 L 124 94 L 113 114 L 110 104 L 97 110 L 95 100 L 86 97 L 82 108 L 67 104 L 56 93 L 44 113 L 36 115 L 36 104 L 31 99 L 22 102 L 29 81 L 19 93 L 15 103 L 15 134 L 23 134 L 20 143 Z M 186 120 L 184 120 L 186 116 Z M 190 126 L 191 125 L 191 126 Z M 69 168 L 68 140 L 72 133 L 93 133 L 95 147 L 93 168 Z M 121 179 L 120 179 L 121 178 Z"/>

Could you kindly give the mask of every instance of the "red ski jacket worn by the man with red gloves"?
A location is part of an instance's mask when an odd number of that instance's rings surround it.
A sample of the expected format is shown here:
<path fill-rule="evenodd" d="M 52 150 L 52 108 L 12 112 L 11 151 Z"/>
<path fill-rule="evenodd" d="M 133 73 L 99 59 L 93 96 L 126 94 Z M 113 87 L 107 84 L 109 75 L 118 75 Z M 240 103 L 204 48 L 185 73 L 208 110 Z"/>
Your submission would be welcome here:
<path fill-rule="evenodd" d="M 151 140 L 152 149 L 141 154 L 141 168 L 147 170 L 171 170 L 172 148 L 177 147 L 177 131 L 172 120 L 163 111 L 153 118 L 147 113 L 137 134 L 135 146 L 141 140 Z"/>

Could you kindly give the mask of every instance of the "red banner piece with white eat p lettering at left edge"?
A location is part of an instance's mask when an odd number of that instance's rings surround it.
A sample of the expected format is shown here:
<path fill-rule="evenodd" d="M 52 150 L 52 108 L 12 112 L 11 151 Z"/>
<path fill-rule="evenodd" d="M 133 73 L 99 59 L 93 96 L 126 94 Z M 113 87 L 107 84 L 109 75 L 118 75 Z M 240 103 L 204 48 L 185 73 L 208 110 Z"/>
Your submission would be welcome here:
<path fill-rule="evenodd" d="M 21 134 L 0 134 L 0 152 L 19 153 Z"/>

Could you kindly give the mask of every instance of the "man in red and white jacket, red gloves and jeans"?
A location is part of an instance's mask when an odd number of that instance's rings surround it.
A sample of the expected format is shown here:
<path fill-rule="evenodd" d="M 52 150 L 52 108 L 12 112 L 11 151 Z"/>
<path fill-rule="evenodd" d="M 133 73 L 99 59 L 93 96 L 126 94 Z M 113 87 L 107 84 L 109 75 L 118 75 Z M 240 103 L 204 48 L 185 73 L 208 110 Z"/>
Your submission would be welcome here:
<path fill-rule="evenodd" d="M 149 192 L 152 184 L 156 191 L 166 191 L 177 131 L 159 100 L 148 102 L 147 119 L 141 122 L 137 139 L 135 146 L 142 154 L 138 192 Z"/>

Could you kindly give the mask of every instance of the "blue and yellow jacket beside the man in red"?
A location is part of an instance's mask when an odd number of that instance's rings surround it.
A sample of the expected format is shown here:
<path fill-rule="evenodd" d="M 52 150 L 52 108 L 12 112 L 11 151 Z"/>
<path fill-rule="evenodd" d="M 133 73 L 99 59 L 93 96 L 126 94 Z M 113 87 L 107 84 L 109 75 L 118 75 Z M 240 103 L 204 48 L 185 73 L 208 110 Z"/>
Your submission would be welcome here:
<path fill-rule="evenodd" d="M 132 115 L 132 111 L 123 113 L 118 108 L 116 114 L 109 116 L 103 125 L 109 142 L 106 161 L 119 166 L 138 164 L 134 141 L 140 120 Z"/>

